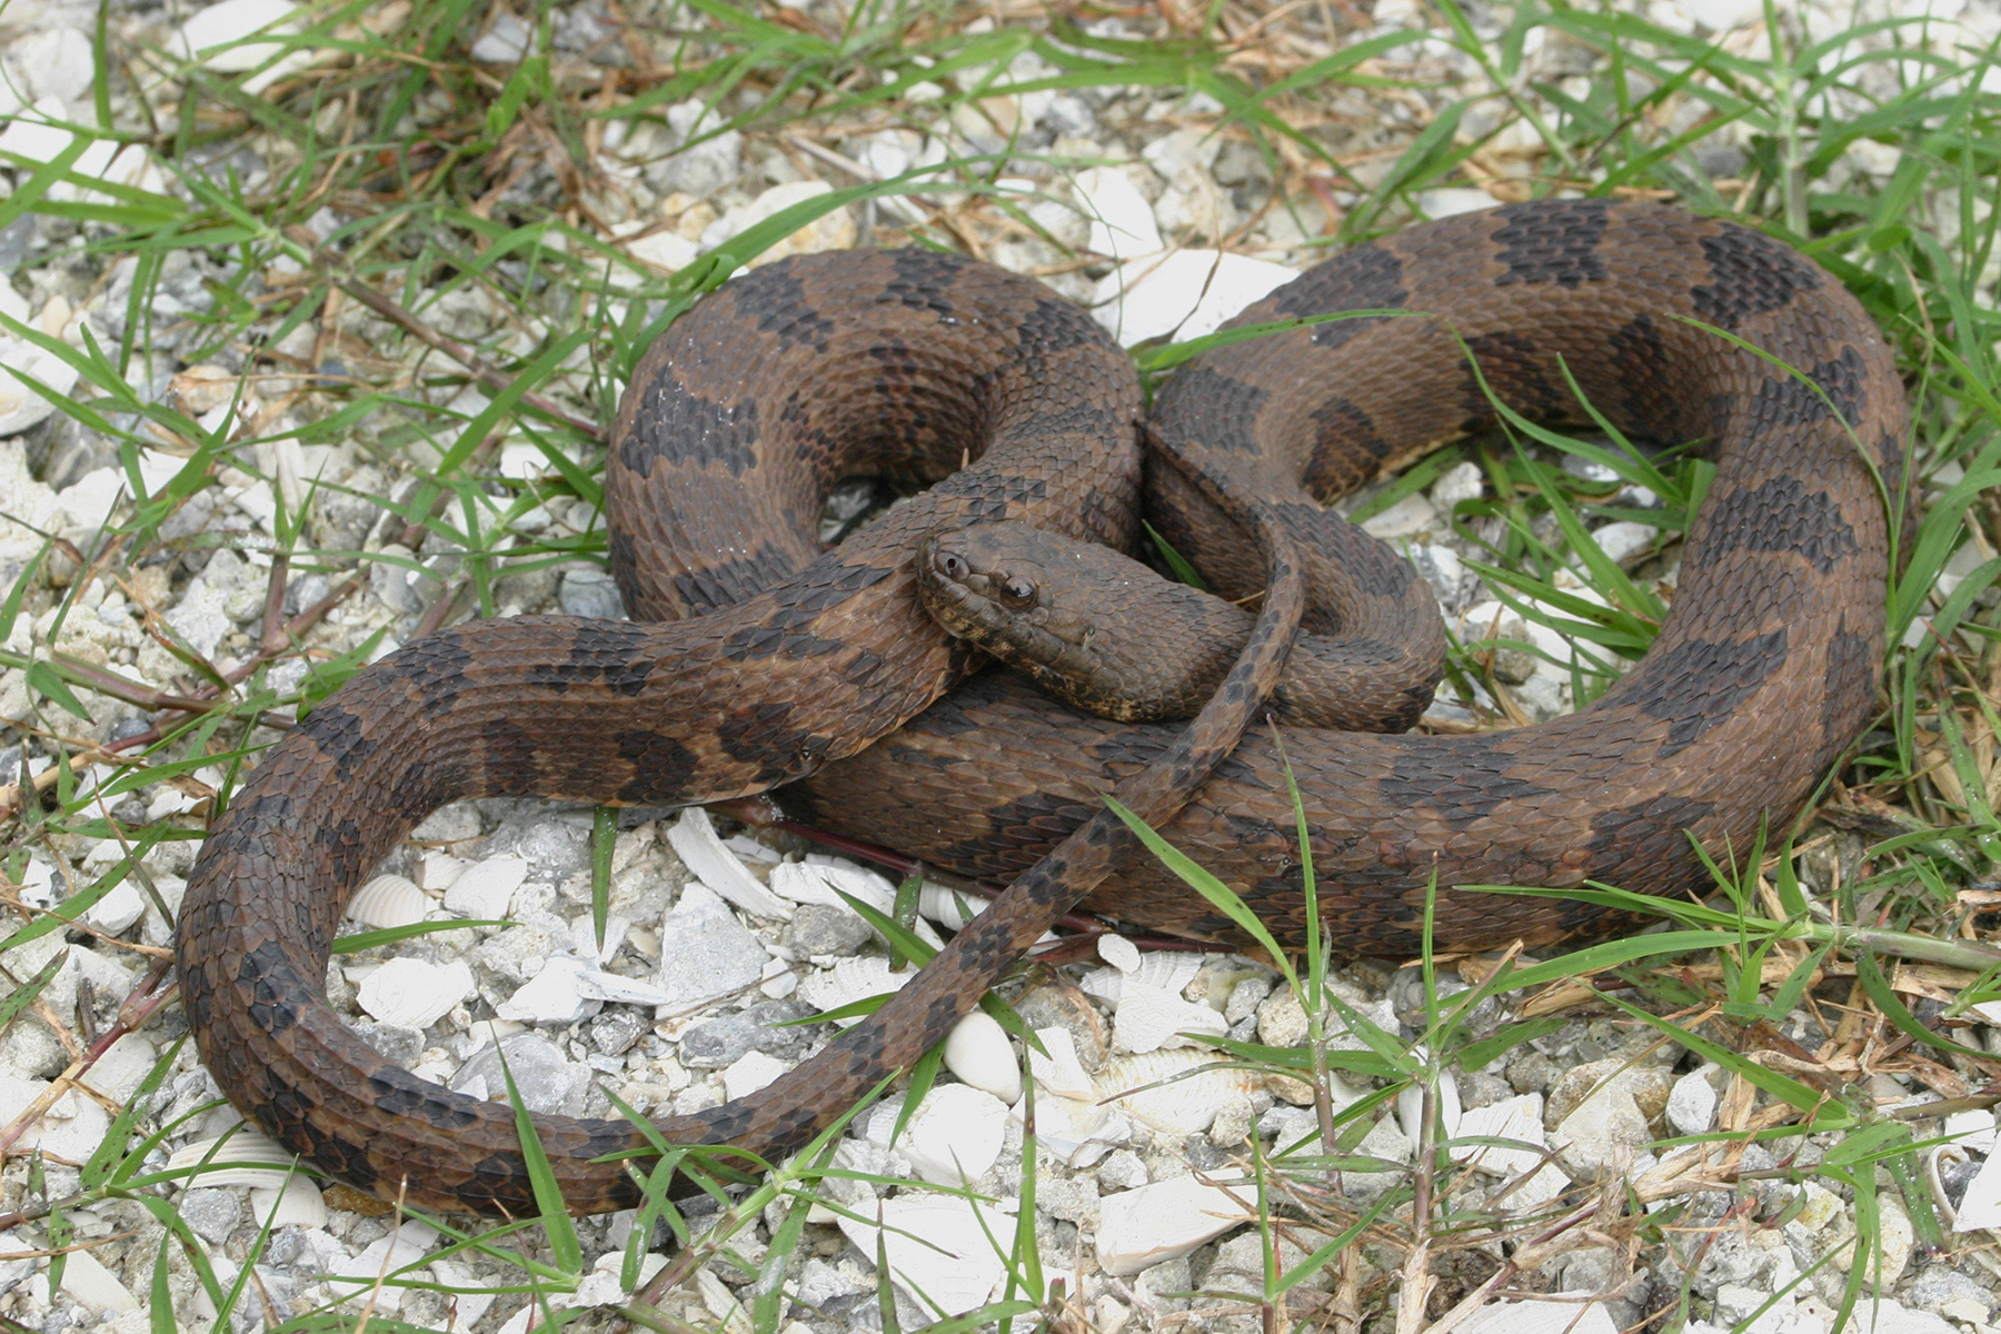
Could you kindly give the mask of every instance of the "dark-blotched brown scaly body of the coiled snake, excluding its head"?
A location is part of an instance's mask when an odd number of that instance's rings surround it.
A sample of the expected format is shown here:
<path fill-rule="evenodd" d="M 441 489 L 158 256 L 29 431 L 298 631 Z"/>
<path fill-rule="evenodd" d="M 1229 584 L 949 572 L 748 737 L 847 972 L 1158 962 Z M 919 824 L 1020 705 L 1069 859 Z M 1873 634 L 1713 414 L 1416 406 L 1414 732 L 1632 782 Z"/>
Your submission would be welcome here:
<path fill-rule="evenodd" d="M 482 620 L 416 640 L 320 704 L 214 822 L 178 964 L 216 1082 L 386 1198 L 534 1208 L 510 1108 L 388 1064 L 324 990 L 352 888 L 424 814 L 478 794 L 670 804 L 788 784 L 798 818 L 1013 880 L 820 1056 L 658 1124 L 768 1160 L 942 1038 L 1101 880 L 1097 910 L 1239 940 L 1123 842 L 1103 808 L 1115 784 L 1297 938 L 1277 744 L 1253 730 L 1229 746 L 1295 624 L 1353 674 L 1357 726 L 1425 708 L 1443 644 L 1429 592 L 1313 496 L 1487 422 L 1469 352 L 1525 414 L 1577 416 L 1567 368 L 1631 434 L 1713 440 L 1717 472 L 1659 640 L 1589 708 L 1473 736 L 1283 732 L 1339 948 L 1411 950 L 1433 876 L 1671 894 L 1703 880 L 1685 830 L 1721 852 L 1791 820 L 1875 708 L 1889 524 L 1871 464 L 1893 496 L 1903 474 L 1903 386 L 1841 284 L 1729 222 L 1569 200 L 1357 246 L 1239 322 L 1337 310 L 1427 318 L 1213 348 L 1169 380 L 1143 456 L 1127 358 L 1033 280 L 896 250 L 794 258 L 706 296 L 636 368 L 608 462 L 612 570 L 636 616 L 668 620 Z M 868 470 L 936 484 L 820 550 L 826 486 Z M 1143 494 L 1225 594 L 1271 588 L 1203 716 L 1107 722 L 1003 672 L 962 680 L 978 658 L 922 618 L 918 542 L 1027 520 L 1131 550 Z M 1607 926 L 1533 898 L 1441 892 L 1437 910 L 1453 948 Z M 632 1126 L 538 1116 L 536 1132 L 572 1210 L 636 1200 L 622 1164 L 594 1162 L 644 1152 Z"/>

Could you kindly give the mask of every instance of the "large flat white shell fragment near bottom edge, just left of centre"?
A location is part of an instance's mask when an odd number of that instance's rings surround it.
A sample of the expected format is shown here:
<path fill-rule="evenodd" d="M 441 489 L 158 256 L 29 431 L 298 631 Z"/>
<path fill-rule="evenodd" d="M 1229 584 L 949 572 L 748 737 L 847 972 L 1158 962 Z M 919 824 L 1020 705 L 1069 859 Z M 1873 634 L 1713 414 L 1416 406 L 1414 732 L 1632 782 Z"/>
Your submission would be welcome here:
<path fill-rule="evenodd" d="M 994 1246 L 1015 1236 L 1015 1218 L 986 1202 L 902 1194 L 874 1206 L 880 1226 L 842 1214 L 840 1232 L 874 1260 L 880 1246 L 896 1286 L 946 1316 L 984 1306 L 1007 1284 Z M 880 1240 L 878 1240 L 880 1238 Z"/>

